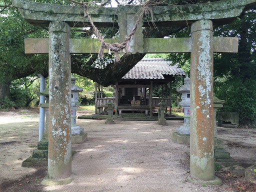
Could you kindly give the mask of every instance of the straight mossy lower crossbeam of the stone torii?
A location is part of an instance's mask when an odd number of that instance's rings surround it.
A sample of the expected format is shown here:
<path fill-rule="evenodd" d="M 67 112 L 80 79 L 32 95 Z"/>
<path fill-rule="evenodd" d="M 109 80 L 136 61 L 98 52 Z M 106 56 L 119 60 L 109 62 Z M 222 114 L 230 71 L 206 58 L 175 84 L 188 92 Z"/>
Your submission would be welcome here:
<path fill-rule="evenodd" d="M 114 43 L 117 39 L 106 38 L 105 42 Z M 25 53 L 48 53 L 48 38 L 25 38 Z M 222 45 L 225 43 L 225 46 Z M 143 38 L 144 53 L 191 52 L 192 38 Z M 159 44 L 161 46 L 159 46 Z M 170 46 L 171 44 L 171 46 Z M 237 37 L 213 37 L 214 52 L 237 52 Z M 70 38 L 70 53 L 98 53 L 101 44 L 97 38 Z M 107 53 L 108 50 L 104 49 Z"/>

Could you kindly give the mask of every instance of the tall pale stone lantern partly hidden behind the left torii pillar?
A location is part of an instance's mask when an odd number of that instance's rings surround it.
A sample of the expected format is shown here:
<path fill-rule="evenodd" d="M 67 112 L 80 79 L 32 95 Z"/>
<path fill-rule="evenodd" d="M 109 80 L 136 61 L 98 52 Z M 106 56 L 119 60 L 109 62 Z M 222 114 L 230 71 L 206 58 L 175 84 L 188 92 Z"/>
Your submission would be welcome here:
<path fill-rule="evenodd" d="M 87 133 L 83 132 L 83 128 L 76 125 L 76 108 L 80 106 L 78 101 L 78 92 L 83 90 L 75 84 L 75 78 L 71 77 L 71 142 L 72 143 L 82 143 L 86 137 Z"/>

